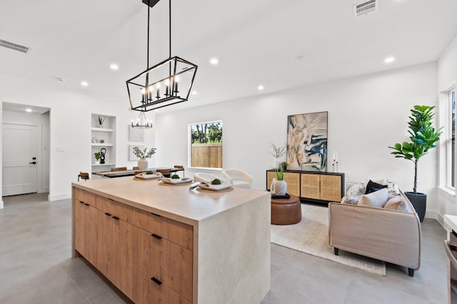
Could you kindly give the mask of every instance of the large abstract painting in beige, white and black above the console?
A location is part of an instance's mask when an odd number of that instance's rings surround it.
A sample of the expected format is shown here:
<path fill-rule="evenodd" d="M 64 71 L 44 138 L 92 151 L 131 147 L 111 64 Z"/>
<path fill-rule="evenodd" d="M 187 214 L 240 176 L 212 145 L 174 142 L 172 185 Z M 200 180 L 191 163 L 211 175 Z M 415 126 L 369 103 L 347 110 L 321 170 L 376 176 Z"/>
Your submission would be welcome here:
<path fill-rule="evenodd" d="M 327 171 L 328 112 L 287 116 L 287 169 Z"/>

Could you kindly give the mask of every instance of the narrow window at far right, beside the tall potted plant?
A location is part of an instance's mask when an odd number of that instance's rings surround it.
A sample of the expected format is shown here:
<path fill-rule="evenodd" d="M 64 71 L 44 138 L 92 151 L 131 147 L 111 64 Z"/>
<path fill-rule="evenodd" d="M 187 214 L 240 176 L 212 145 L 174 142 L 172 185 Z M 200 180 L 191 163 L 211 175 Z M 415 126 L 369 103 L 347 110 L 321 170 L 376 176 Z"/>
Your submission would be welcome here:
<path fill-rule="evenodd" d="M 456 87 L 446 93 L 446 106 L 448 118 L 446 120 L 446 144 L 448 151 L 448 186 L 456 188 Z"/>

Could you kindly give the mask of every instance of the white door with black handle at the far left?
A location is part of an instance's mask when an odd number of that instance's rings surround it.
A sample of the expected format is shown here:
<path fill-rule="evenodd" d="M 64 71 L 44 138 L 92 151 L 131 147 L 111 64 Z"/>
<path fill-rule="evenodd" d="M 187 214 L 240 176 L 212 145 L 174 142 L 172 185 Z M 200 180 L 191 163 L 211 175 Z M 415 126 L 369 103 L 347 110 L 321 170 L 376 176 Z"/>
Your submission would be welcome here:
<path fill-rule="evenodd" d="M 37 126 L 3 123 L 3 196 L 36 192 Z"/>

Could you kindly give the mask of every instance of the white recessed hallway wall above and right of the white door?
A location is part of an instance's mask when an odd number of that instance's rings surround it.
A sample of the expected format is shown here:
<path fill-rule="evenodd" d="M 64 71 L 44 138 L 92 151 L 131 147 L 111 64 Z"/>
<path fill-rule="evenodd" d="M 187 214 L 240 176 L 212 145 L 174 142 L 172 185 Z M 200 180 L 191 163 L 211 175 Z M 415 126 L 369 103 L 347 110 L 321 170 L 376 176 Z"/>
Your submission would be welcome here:
<path fill-rule="evenodd" d="M 37 155 L 38 176 L 36 181 L 36 191 L 44 193 L 49 191 L 49 112 L 43 114 L 20 113 L 3 111 L 3 122 L 14 123 L 36 123 L 41 126 L 41 144 Z"/>

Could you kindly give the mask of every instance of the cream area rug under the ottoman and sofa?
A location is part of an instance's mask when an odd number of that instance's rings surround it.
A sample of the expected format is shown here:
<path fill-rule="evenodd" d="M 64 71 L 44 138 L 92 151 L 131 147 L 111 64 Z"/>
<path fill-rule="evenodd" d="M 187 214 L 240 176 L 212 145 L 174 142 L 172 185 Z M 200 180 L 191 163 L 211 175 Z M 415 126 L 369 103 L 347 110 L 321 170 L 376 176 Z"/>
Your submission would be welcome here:
<path fill-rule="evenodd" d="M 301 222 L 295 225 L 271 225 L 271 243 L 377 275 L 386 275 L 383 261 L 343 250 L 339 251 L 339 255 L 333 254 L 333 247 L 328 245 L 328 208 L 301 204 L 301 214 Z"/>

